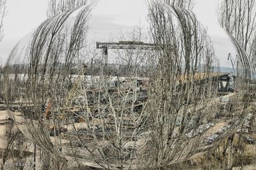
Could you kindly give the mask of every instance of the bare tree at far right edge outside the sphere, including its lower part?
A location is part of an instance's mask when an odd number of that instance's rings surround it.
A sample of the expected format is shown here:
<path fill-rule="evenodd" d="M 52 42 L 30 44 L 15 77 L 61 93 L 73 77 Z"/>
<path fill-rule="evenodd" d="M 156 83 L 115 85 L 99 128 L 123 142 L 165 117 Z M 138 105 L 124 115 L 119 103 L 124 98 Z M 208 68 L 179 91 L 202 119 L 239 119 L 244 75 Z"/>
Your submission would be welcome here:
<path fill-rule="evenodd" d="M 222 1 L 219 13 L 219 22 L 221 27 L 225 29 L 232 40 L 232 43 L 236 47 L 237 57 L 237 70 L 239 71 L 239 78 L 237 78 L 237 87 L 239 89 L 247 89 L 250 94 L 253 94 L 252 87 L 248 88 L 248 80 L 255 79 L 255 38 L 256 38 L 256 1 Z M 246 103 L 250 103 L 252 99 L 248 94 L 246 97 Z M 248 114 L 248 113 L 247 113 Z M 243 125 L 242 125 L 243 129 Z M 233 136 L 229 141 L 233 141 L 237 138 Z M 229 155 L 234 155 L 234 162 L 239 162 L 242 167 L 245 157 L 245 146 L 244 143 L 244 131 L 239 131 L 238 141 L 227 147 L 230 147 Z M 227 143 L 229 142 L 227 141 Z M 223 144 L 225 146 L 225 143 Z M 225 148 L 225 147 L 224 147 Z M 239 159 L 243 158 L 243 159 Z M 230 160 L 230 159 L 228 159 Z M 232 168 L 234 162 L 229 162 L 229 167 Z M 223 164 L 224 166 L 224 164 Z"/>

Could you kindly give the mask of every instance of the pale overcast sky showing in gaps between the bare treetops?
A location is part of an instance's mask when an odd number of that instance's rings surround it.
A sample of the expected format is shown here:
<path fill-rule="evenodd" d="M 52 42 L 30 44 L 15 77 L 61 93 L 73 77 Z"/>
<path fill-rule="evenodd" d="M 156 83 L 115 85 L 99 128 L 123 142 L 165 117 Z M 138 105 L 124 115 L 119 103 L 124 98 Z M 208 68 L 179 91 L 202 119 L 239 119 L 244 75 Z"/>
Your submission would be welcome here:
<path fill-rule="evenodd" d="M 214 43 L 221 66 L 231 67 L 227 53 L 234 53 L 225 32 L 218 25 L 217 9 L 220 0 L 195 0 L 195 13 L 204 24 Z M 139 22 L 147 24 L 145 0 L 99 0 L 92 13 L 90 34 L 97 41 L 108 39 L 116 31 L 129 29 Z M 0 43 L 0 63 L 4 63 L 15 43 L 46 19 L 47 0 L 8 0 L 8 13 L 4 18 L 4 38 Z"/>

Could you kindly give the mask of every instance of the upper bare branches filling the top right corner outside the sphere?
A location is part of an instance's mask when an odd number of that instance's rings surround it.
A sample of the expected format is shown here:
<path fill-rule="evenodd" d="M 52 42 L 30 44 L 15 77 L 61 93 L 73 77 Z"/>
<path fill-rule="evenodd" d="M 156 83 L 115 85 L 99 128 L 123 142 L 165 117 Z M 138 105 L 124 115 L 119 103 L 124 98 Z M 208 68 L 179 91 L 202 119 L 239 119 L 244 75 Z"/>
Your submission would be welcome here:
<path fill-rule="evenodd" d="M 252 69 L 255 71 L 255 38 L 256 38 L 256 1 L 222 1 L 219 22 L 247 53 Z M 232 38 L 231 38 L 232 39 Z M 233 39 L 232 39 L 232 42 Z M 236 45 L 235 45 L 236 46 Z M 238 54 L 240 55 L 241 52 Z M 251 68 L 250 68 L 251 69 Z"/>

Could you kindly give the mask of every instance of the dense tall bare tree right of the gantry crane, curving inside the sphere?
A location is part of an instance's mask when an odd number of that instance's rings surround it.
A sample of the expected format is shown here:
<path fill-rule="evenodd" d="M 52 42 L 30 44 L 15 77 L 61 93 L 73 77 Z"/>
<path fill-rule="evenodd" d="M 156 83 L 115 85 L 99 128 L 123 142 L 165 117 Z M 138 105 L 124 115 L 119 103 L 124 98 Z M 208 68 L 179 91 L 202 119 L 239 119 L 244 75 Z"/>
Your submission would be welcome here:
<path fill-rule="evenodd" d="M 186 134 L 211 119 L 200 110 L 200 103 L 208 103 L 209 107 L 214 104 L 205 98 L 216 93 L 210 78 L 214 51 L 204 28 L 190 11 L 154 2 L 149 18 L 154 43 L 161 50 L 156 54 L 157 68 L 149 93 L 151 140 L 145 157 L 154 155 L 147 158 L 147 166 L 164 167 L 182 162 L 193 154 L 189 148 L 202 140 L 201 136 L 186 140 Z M 207 81 L 198 84 L 198 77 Z"/>

